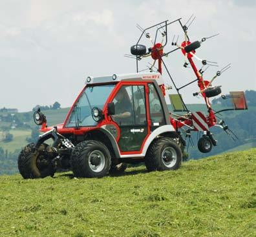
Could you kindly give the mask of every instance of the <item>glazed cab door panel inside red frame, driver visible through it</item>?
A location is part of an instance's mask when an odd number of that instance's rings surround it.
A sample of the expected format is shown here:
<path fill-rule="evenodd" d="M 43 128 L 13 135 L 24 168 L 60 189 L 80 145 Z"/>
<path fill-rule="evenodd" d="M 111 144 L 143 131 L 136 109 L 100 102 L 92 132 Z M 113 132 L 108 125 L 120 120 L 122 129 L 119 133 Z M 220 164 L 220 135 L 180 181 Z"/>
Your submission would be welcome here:
<path fill-rule="evenodd" d="M 140 151 L 149 132 L 146 112 L 146 83 L 122 85 L 113 101 L 112 119 L 120 128 L 118 146 L 122 152 Z"/>

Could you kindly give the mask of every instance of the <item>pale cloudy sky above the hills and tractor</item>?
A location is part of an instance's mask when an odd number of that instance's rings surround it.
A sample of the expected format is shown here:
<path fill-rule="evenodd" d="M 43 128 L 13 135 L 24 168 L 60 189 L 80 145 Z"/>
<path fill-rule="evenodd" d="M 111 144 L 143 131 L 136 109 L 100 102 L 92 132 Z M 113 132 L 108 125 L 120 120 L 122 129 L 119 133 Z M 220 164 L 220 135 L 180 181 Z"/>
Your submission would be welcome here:
<path fill-rule="evenodd" d="M 180 17 L 186 23 L 192 14 L 196 19 L 188 30 L 191 41 L 220 34 L 197 50 L 198 57 L 219 65 L 210 67 L 205 79 L 231 63 L 214 85 L 222 85 L 223 94 L 256 90 L 255 13 L 255 0 L 1 0 L 0 108 L 23 112 L 55 101 L 70 107 L 87 76 L 136 72 L 135 61 L 123 56 L 130 54 L 140 36 L 136 24 L 147 28 Z M 178 26 L 168 33 L 169 43 L 174 35 L 179 35 L 178 43 L 183 41 Z M 151 46 L 147 39 L 142 43 Z M 169 44 L 165 50 L 172 47 Z M 164 60 L 178 87 L 195 79 L 191 68 L 183 67 L 180 52 Z M 200 61 L 195 63 L 202 66 Z M 197 90 L 197 85 L 181 90 L 184 100 L 202 103 L 202 98 L 193 97 Z"/>

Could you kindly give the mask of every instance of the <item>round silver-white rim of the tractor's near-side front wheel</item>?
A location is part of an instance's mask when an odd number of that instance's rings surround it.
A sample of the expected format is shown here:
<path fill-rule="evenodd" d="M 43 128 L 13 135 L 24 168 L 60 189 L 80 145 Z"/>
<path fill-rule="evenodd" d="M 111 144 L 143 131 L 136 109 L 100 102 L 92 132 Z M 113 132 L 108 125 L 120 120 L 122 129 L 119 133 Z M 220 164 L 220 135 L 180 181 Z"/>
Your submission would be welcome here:
<path fill-rule="evenodd" d="M 105 156 L 100 150 L 93 150 L 89 154 L 89 167 L 94 172 L 101 172 L 105 167 Z"/>

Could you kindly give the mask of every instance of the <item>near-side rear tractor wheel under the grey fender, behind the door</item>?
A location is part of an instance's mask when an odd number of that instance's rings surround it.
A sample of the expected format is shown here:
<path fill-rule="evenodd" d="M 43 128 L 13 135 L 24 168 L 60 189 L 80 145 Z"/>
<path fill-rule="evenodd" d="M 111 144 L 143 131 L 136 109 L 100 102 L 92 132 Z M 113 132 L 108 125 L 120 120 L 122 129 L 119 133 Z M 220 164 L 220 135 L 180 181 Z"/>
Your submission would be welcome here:
<path fill-rule="evenodd" d="M 167 154 L 173 155 L 167 157 Z M 165 160 L 166 159 L 166 160 Z M 176 170 L 182 162 L 180 146 L 171 138 L 157 138 L 150 145 L 145 156 L 147 170 Z"/>

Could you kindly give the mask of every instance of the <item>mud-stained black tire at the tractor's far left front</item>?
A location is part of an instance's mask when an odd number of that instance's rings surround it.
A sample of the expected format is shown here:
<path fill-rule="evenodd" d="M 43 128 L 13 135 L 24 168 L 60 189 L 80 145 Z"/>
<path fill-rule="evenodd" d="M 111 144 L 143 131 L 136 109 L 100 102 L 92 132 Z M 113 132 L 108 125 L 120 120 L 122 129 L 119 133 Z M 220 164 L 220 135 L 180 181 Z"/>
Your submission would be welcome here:
<path fill-rule="evenodd" d="M 47 144 L 43 143 L 39 147 L 40 150 L 47 149 Z M 55 169 L 49 161 L 45 160 L 44 164 L 39 163 L 42 156 L 34 155 L 32 149 L 34 143 L 29 143 L 23 150 L 21 150 L 17 163 L 21 176 L 25 179 L 31 178 L 45 178 L 47 176 L 54 176 Z"/>

